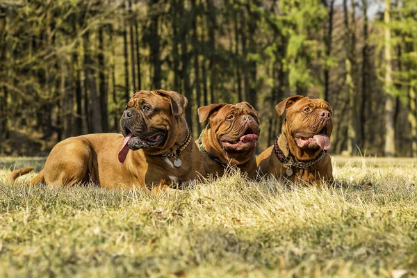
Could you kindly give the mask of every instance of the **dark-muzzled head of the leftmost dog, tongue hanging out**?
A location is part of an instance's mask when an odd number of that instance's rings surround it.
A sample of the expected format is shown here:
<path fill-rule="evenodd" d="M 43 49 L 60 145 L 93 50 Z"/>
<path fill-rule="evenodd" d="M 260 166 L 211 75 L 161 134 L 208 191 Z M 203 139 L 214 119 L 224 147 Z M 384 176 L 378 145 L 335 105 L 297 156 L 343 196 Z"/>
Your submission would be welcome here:
<path fill-rule="evenodd" d="M 123 162 L 129 149 L 170 148 L 179 136 L 179 121 L 188 100 L 178 92 L 141 90 L 130 99 L 120 119 L 125 137 L 119 153 Z"/>

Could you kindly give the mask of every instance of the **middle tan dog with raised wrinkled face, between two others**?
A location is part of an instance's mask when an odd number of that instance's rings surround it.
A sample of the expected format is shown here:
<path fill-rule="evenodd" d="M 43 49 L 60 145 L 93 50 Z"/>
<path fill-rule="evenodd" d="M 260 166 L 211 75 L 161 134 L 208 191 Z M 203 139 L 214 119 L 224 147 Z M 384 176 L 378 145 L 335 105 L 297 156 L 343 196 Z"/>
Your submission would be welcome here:
<path fill-rule="evenodd" d="M 204 154 L 205 172 L 222 176 L 227 165 L 236 165 L 250 178 L 256 177 L 258 113 L 247 102 L 210 104 L 198 109 L 199 122 L 207 118 L 206 129 L 197 140 Z"/>

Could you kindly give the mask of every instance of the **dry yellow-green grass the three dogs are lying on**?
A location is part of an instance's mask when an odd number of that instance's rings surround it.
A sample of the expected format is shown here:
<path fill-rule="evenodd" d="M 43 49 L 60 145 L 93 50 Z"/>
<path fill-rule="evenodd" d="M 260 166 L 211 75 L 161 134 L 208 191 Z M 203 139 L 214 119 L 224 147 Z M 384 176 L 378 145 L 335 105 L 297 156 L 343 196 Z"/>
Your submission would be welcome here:
<path fill-rule="evenodd" d="M 326 188 L 231 173 L 157 196 L 12 186 L 5 166 L 0 276 L 415 277 L 416 164 L 374 162 Z"/>

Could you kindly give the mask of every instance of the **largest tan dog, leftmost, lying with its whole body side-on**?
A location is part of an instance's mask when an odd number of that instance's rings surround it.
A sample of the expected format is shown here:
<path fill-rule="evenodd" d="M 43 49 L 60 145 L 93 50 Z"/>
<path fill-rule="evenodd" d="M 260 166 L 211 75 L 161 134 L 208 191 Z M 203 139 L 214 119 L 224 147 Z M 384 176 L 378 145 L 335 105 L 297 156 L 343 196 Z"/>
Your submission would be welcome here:
<path fill-rule="evenodd" d="M 59 142 L 44 170 L 30 183 L 73 186 L 92 181 L 103 188 L 152 186 L 158 190 L 196 179 L 204 174 L 204 167 L 195 163 L 201 154 L 183 116 L 187 104 L 178 92 L 137 92 L 120 120 L 123 136 L 90 134 Z M 14 182 L 31 170 L 16 170 L 8 180 Z"/>

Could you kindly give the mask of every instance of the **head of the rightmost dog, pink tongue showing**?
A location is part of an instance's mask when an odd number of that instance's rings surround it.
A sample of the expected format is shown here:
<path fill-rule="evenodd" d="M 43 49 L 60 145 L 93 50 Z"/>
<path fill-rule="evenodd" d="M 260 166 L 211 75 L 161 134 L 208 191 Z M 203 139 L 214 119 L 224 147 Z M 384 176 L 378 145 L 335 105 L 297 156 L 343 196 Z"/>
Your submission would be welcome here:
<path fill-rule="evenodd" d="M 330 148 L 333 110 L 326 101 L 293 96 L 277 104 L 275 110 L 279 116 L 286 111 L 287 140 L 293 140 L 300 149 Z"/>

